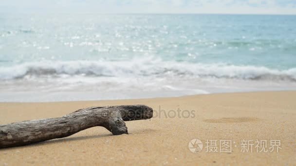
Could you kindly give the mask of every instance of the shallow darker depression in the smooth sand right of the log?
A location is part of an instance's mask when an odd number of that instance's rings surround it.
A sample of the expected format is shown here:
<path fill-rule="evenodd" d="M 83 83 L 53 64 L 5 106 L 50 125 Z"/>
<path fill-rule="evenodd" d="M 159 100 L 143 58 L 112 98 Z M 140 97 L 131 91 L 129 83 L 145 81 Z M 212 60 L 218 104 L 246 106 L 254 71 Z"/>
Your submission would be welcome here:
<path fill-rule="evenodd" d="M 241 122 L 258 122 L 261 119 L 257 117 L 222 117 L 220 119 L 205 119 L 207 123 L 241 123 Z"/>

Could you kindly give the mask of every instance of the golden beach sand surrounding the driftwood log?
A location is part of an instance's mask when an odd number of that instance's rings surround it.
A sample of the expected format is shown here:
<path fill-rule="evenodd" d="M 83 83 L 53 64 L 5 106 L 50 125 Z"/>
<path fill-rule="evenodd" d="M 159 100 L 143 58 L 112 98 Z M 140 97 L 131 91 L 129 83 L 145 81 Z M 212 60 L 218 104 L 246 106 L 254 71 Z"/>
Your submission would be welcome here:
<path fill-rule="evenodd" d="M 129 134 L 113 136 L 94 127 L 70 137 L 35 145 L 0 149 L 1 165 L 296 165 L 296 92 L 210 94 L 140 100 L 50 103 L 0 103 L 0 124 L 63 116 L 90 106 L 146 104 L 158 112 L 195 110 L 195 117 L 126 122 Z M 182 112 L 181 112 L 182 113 Z M 171 116 L 173 116 L 171 112 Z M 191 116 L 193 116 L 191 114 Z M 188 149 L 191 139 L 203 150 Z M 280 140 L 278 152 L 241 152 L 242 140 Z M 206 140 L 217 140 L 218 152 L 206 152 Z M 220 140 L 232 141 L 232 152 L 219 152 Z M 253 142 L 255 143 L 255 142 Z"/>

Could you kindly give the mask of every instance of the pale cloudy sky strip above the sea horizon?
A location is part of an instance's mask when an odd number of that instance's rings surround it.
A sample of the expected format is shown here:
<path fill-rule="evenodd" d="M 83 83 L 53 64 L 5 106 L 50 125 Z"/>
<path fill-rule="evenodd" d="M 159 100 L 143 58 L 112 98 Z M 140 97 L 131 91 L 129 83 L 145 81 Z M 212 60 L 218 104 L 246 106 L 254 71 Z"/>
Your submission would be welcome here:
<path fill-rule="evenodd" d="M 0 13 L 296 15 L 296 0 L 0 0 Z"/>

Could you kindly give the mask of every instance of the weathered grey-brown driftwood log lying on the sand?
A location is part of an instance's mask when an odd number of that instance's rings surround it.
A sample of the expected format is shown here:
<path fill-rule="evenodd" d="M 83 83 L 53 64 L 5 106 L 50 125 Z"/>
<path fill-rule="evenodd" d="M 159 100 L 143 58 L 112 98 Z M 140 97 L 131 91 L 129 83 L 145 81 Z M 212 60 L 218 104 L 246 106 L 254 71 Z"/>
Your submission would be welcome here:
<path fill-rule="evenodd" d="M 121 105 L 90 107 L 62 117 L 0 125 L 0 148 L 63 138 L 94 126 L 105 127 L 114 135 L 128 134 L 124 121 L 149 119 L 152 116 L 152 108 L 146 105 Z"/>

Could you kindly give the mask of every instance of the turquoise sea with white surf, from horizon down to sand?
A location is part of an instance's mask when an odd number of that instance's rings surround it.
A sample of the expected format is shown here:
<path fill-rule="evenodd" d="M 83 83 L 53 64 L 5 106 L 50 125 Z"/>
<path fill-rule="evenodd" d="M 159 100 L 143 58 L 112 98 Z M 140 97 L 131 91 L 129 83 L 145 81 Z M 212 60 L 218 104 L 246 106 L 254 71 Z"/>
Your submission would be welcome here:
<path fill-rule="evenodd" d="M 0 101 L 296 89 L 296 16 L 0 14 Z"/>

